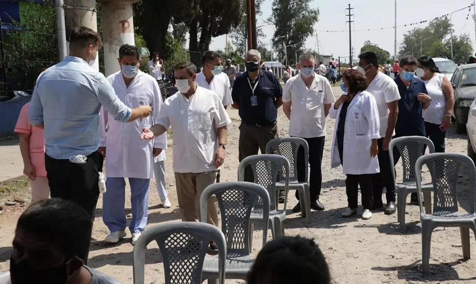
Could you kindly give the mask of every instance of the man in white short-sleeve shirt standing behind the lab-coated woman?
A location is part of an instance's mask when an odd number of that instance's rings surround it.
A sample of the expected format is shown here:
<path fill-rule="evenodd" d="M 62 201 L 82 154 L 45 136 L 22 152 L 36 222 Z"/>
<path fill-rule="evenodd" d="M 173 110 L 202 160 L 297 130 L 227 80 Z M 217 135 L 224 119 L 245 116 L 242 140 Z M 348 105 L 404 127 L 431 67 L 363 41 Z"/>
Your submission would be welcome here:
<path fill-rule="evenodd" d="M 395 184 L 392 175 L 394 165 L 390 164 L 388 146 L 392 136 L 395 135 L 395 125 L 398 117 L 398 92 L 397 83 L 378 71 L 378 59 L 375 52 L 364 52 L 359 55 L 359 69 L 365 73 L 370 92 L 377 102 L 378 114 L 380 116 L 380 139 L 378 139 L 378 163 L 380 173 L 375 175 L 373 182 L 373 208 L 374 210 L 383 207 L 382 192 L 387 189 L 387 206 L 385 214 L 395 213 Z"/>

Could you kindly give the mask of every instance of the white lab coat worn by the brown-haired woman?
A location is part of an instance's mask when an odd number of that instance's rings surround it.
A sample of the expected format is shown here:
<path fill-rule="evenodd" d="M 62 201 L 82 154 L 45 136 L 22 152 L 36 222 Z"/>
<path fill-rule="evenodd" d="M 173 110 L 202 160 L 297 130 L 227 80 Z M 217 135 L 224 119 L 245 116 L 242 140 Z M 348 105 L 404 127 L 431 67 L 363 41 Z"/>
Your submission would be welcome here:
<path fill-rule="evenodd" d="M 337 128 L 339 126 L 342 103 L 338 109 L 334 104 L 329 110 L 329 117 L 336 120 L 331 150 L 331 168 L 341 164 L 337 147 Z M 372 139 L 379 139 L 380 120 L 377 103 L 372 94 L 359 92 L 350 102 L 345 117 L 344 127 L 344 165 L 346 175 L 375 174 L 380 172 L 377 156 L 370 156 Z"/>

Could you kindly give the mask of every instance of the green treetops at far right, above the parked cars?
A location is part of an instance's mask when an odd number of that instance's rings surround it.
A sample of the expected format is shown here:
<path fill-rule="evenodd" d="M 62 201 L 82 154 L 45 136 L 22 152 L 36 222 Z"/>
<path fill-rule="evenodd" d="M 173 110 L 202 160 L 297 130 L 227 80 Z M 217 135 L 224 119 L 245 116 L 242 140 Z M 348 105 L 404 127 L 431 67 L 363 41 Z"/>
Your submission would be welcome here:
<path fill-rule="evenodd" d="M 438 18 L 428 26 L 414 28 L 403 35 L 399 56 L 412 54 L 415 57 L 427 55 L 430 57 L 446 56 L 455 63 L 468 61 L 473 53 L 469 35 L 456 36 L 453 34 L 453 58 L 451 58 L 451 33 L 454 33 L 448 18 Z M 421 47 L 420 47 L 421 46 Z"/>

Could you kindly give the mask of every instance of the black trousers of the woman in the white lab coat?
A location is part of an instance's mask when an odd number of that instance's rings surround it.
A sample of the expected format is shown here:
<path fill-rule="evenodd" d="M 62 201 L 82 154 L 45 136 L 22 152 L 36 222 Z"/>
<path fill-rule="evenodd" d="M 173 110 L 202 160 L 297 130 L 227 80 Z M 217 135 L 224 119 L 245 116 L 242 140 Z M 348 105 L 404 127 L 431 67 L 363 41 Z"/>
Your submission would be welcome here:
<path fill-rule="evenodd" d="M 362 194 L 362 207 L 372 210 L 373 179 L 375 174 L 347 175 L 345 179 L 345 192 L 347 193 L 347 206 L 355 209 L 358 207 L 359 184 Z"/>

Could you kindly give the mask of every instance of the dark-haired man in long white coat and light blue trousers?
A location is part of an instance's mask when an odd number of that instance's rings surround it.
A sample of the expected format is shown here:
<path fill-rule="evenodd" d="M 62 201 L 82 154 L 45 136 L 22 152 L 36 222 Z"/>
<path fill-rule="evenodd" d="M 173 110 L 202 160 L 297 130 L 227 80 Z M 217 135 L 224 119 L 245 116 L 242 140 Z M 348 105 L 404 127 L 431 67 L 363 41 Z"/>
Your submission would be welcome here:
<path fill-rule="evenodd" d="M 154 125 L 162 105 L 157 81 L 141 72 L 139 50 L 123 45 L 119 49 L 121 71 L 107 77 L 117 97 L 128 106 L 151 105 L 152 115 L 127 124 L 119 124 L 103 109 L 100 123 L 100 153 L 106 156 L 106 188 L 103 196 L 103 221 L 110 231 L 105 241 L 116 243 L 126 236 L 125 178 L 131 185 L 132 220 L 129 230 L 132 244 L 147 225 L 149 182 L 154 177 L 154 157 L 164 159 L 166 134 L 152 141 L 141 140 L 142 128 Z M 107 132 L 106 132 L 107 129 Z M 107 152 L 107 155 L 106 155 Z M 160 179 L 160 177 L 158 178 Z"/>

